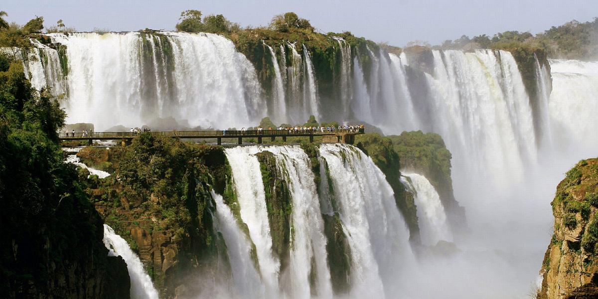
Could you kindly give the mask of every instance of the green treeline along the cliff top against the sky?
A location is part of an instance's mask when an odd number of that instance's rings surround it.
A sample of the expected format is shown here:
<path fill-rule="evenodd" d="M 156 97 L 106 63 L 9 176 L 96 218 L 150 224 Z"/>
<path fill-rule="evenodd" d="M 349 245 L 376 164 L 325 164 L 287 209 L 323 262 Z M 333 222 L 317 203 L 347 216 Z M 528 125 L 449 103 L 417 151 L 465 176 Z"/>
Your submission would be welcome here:
<path fill-rule="evenodd" d="M 8 23 L 5 11 L 0 11 L 0 45 L 28 47 L 26 39 L 20 37 L 32 33 L 41 33 L 43 17 L 35 17 L 25 26 L 16 23 Z M 318 40 L 325 35 L 317 33 L 309 20 L 303 19 L 293 12 L 274 16 L 268 26 L 243 28 L 239 23 L 234 23 L 222 14 L 210 14 L 203 16 L 200 10 L 185 10 L 179 17 L 176 30 L 183 32 L 208 32 L 218 33 L 238 42 L 243 35 L 259 36 L 263 39 L 285 39 L 285 40 Z M 67 27 L 62 20 L 56 25 L 46 28 L 46 32 L 74 32 L 75 29 Z M 95 32 L 107 32 L 108 29 L 95 28 Z M 159 30 L 144 29 L 142 32 L 155 32 Z M 328 33 L 329 35 L 330 33 Z M 338 34 L 336 34 L 338 35 Z M 352 36 L 350 32 L 341 33 L 340 36 Z M 372 42 L 373 43 L 373 42 Z M 493 36 L 486 34 L 474 36 L 462 35 L 455 40 L 446 40 L 441 45 L 431 46 L 425 41 L 413 41 L 405 45 L 411 47 L 423 45 L 429 48 L 444 50 L 465 50 L 471 51 L 479 48 L 532 48 L 542 49 L 548 56 L 562 59 L 598 59 L 598 17 L 591 22 L 577 22 L 573 20 L 561 26 L 553 26 L 544 32 L 533 35 L 530 32 L 518 32 L 517 30 L 496 33 Z M 380 44 L 391 52 L 400 52 L 399 47 L 388 44 Z"/>

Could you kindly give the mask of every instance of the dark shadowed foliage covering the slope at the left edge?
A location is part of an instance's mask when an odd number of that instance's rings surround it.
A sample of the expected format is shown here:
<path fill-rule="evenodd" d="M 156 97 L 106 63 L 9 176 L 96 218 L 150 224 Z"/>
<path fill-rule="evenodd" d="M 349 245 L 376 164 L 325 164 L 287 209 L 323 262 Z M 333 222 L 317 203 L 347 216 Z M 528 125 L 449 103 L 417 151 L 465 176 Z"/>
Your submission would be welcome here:
<path fill-rule="evenodd" d="M 32 89 L 22 63 L 0 54 L 2 298 L 71 296 L 88 279 L 102 279 L 108 263 L 102 222 L 57 144 L 65 112 L 48 94 Z M 78 279 L 66 278 L 67 269 L 77 269 Z M 104 283 L 88 295 L 106 291 Z"/>

